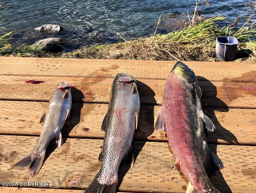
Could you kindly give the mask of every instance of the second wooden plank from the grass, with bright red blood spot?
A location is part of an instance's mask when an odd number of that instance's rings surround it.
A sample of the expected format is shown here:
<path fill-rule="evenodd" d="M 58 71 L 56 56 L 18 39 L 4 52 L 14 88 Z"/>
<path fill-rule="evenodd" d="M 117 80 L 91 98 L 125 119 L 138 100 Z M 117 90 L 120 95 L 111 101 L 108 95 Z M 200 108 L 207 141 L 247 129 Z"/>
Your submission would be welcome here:
<path fill-rule="evenodd" d="M 28 80 L 45 83 L 26 83 Z M 73 101 L 108 103 L 113 78 L 0 76 L 0 99 L 48 101 L 61 81 L 76 86 Z M 142 104 L 162 103 L 165 80 L 139 79 L 138 83 Z M 255 83 L 199 81 L 199 85 L 205 107 L 256 108 Z"/>

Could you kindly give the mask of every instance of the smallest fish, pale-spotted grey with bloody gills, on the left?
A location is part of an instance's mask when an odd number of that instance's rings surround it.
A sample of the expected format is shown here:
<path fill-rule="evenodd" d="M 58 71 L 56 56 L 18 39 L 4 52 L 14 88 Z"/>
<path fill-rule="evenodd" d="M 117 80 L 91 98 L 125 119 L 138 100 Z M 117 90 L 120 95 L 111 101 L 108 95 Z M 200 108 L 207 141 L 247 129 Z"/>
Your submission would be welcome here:
<path fill-rule="evenodd" d="M 40 119 L 43 129 L 37 140 L 36 147 L 25 158 L 18 161 L 12 168 L 28 168 L 32 177 L 39 172 L 48 145 L 56 143 L 61 146 L 61 129 L 69 123 L 72 106 L 71 86 L 67 82 L 58 83 L 50 98 L 48 107 Z"/>

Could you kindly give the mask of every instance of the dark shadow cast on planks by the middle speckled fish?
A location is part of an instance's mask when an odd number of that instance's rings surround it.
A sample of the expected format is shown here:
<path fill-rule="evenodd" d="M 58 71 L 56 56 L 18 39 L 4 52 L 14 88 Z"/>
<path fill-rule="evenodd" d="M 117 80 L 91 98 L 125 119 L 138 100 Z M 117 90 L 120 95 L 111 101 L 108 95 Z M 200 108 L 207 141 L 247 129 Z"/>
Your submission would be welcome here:
<path fill-rule="evenodd" d="M 155 100 L 155 92 L 146 84 L 138 81 L 138 91 L 139 91 L 139 96 L 140 99 L 143 98 L 143 96 L 146 96 L 148 98 L 149 101 L 152 101 L 154 104 L 156 104 L 156 100 Z M 143 110 L 143 112 L 145 112 L 146 115 L 146 122 L 148 123 L 148 125 L 154 125 L 154 105 L 143 105 L 141 108 L 145 108 L 145 110 Z M 142 112 L 142 111 L 141 111 Z M 139 119 L 140 120 L 140 119 Z M 140 124 L 140 122 L 138 123 Z M 140 130 L 140 129 L 139 129 Z M 135 131 L 135 133 L 138 131 Z M 146 138 L 145 137 L 149 137 L 153 132 L 154 132 L 154 128 L 152 126 L 149 126 L 147 128 L 147 131 L 144 130 L 140 130 L 141 132 L 141 136 L 143 136 L 143 138 L 140 140 L 140 142 L 135 142 L 132 144 L 133 146 L 133 156 L 134 156 L 134 163 L 136 163 L 136 159 L 137 156 L 139 155 L 140 151 L 142 150 L 143 146 L 146 143 Z M 142 134 L 143 133 L 143 134 Z M 138 136 L 139 134 L 136 134 L 136 139 L 138 140 Z M 134 138 L 133 138 L 134 139 Z M 142 141 L 143 140 L 143 141 Z M 126 175 L 126 173 L 129 171 L 131 166 L 127 166 L 121 163 L 120 167 L 119 167 L 119 171 L 118 171 L 118 185 L 117 185 L 117 190 L 119 190 L 120 184 L 123 181 L 124 176 Z"/>

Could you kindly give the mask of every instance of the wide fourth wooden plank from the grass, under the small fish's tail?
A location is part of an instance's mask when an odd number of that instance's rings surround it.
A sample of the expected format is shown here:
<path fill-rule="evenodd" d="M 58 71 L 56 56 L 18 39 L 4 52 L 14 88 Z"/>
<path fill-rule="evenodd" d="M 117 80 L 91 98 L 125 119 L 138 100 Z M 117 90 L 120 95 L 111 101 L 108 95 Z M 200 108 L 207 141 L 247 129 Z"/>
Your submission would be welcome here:
<path fill-rule="evenodd" d="M 48 149 L 46 160 L 34 178 L 27 170 L 10 170 L 11 165 L 33 149 L 36 139 L 1 137 L 1 182 L 51 182 L 52 188 L 85 189 L 101 166 L 98 154 L 103 140 L 69 138 L 63 146 Z M 256 191 L 255 146 L 210 147 L 224 164 L 221 172 L 210 177 L 220 192 Z M 175 169 L 175 158 L 169 149 L 165 142 L 133 142 L 136 161 L 133 167 L 120 166 L 119 191 L 185 192 L 187 182 Z"/>

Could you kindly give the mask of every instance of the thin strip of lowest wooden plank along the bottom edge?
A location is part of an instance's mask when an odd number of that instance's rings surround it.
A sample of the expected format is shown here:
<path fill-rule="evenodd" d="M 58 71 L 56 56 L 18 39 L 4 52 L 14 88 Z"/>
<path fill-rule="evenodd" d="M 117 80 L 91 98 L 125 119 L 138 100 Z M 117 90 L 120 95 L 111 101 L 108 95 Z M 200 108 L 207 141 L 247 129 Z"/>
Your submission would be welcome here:
<path fill-rule="evenodd" d="M 84 190 L 71 190 L 71 189 L 47 189 L 47 188 L 24 188 L 24 187 L 0 187 L 0 192 L 9 192 L 9 193 L 20 193 L 20 192 L 29 192 L 29 193 L 38 193 L 38 192 L 47 192 L 47 193 L 84 193 Z M 117 192 L 121 193 L 121 192 Z"/>

